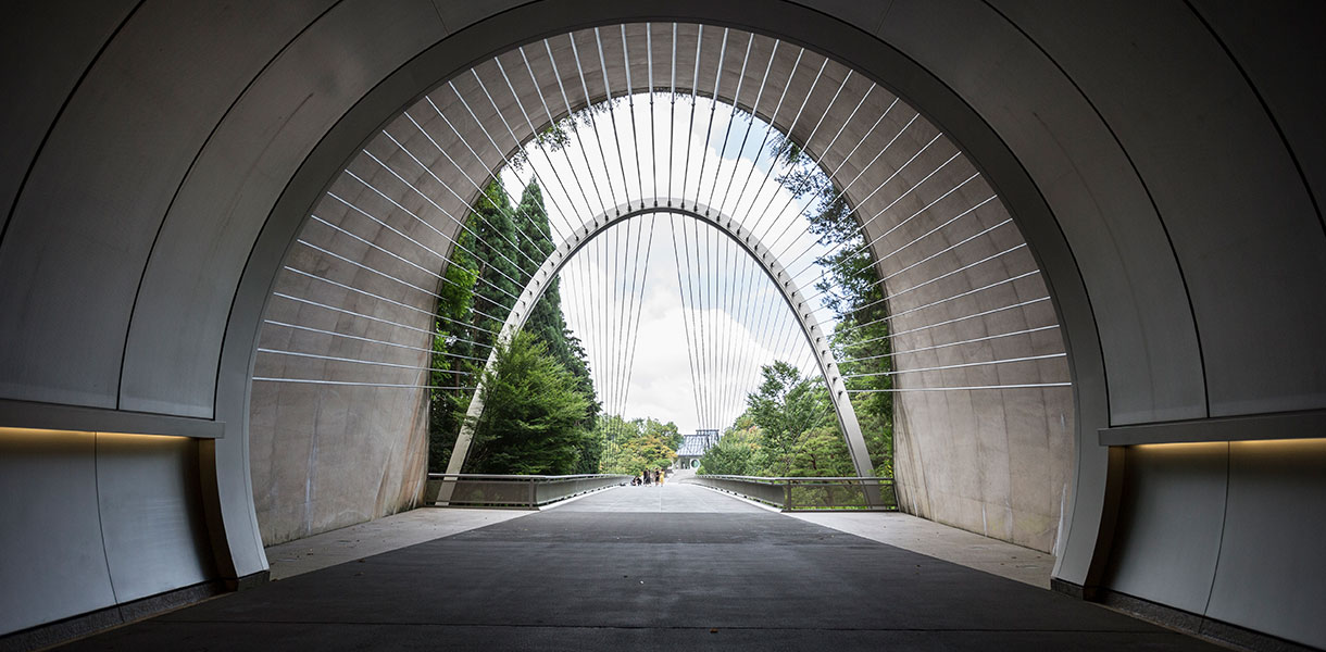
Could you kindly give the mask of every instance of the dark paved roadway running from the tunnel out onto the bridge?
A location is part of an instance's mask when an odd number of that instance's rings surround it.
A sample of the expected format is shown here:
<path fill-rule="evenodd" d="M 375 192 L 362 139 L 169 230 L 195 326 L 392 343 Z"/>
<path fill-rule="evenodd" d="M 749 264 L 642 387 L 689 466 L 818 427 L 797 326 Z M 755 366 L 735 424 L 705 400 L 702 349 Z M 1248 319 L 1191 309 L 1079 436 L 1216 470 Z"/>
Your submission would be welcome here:
<path fill-rule="evenodd" d="M 1223 649 L 687 485 L 305 572 L 68 649 Z"/>

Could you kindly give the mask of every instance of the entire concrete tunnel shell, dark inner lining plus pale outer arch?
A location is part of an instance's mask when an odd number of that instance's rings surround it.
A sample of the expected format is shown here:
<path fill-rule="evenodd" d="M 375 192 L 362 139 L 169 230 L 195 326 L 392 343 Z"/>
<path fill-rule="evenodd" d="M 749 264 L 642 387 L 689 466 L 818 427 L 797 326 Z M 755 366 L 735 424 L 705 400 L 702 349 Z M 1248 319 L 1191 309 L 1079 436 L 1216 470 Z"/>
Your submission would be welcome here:
<path fill-rule="evenodd" d="M 403 367 L 427 366 L 436 303 L 366 268 L 431 282 L 443 213 L 468 201 L 439 188 L 530 138 L 514 109 L 572 83 L 569 44 L 613 27 L 619 52 L 676 23 L 680 87 L 754 111 L 835 183 L 865 178 L 846 195 L 882 216 L 865 231 L 890 293 L 945 278 L 891 303 L 894 350 L 926 350 L 903 386 L 947 390 L 895 403 L 906 512 L 1054 553 L 1054 587 L 1082 599 L 1326 647 L 1322 19 L 1216 0 L 11 8 L 0 635 L 261 583 L 264 545 L 416 505 L 426 391 L 390 386 L 418 384 Z M 842 139 L 751 103 L 736 57 L 696 65 L 719 48 L 700 25 L 752 34 L 774 72 L 797 65 L 774 41 L 823 62 L 857 111 L 812 76 L 769 87 Z M 508 91 L 497 62 L 542 38 Z M 629 60 L 585 60 L 569 109 L 664 65 Z M 488 83 L 473 121 L 412 130 L 412 107 Z M 428 129 L 484 146 L 419 162 Z M 914 191 L 869 193 L 894 178 Z M 930 205 L 952 209 L 910 219 Z M 374 355 L 396 367 L 335 360 Z M 1038 359 L 963 367 L 991 356 Z"/>

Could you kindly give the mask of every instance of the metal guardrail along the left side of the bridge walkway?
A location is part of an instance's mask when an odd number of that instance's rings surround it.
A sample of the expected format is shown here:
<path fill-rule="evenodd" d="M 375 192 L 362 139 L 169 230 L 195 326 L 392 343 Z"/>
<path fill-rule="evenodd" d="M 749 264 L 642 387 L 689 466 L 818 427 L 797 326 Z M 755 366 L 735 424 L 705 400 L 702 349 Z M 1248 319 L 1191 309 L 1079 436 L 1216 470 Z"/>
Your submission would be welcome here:
<path fill-rule="evenodd" d="M 538 509 L 582 493 L 630 482 L 630 476 L 503 476 L 428 473 L 424 505 L 448 508 Z"/>

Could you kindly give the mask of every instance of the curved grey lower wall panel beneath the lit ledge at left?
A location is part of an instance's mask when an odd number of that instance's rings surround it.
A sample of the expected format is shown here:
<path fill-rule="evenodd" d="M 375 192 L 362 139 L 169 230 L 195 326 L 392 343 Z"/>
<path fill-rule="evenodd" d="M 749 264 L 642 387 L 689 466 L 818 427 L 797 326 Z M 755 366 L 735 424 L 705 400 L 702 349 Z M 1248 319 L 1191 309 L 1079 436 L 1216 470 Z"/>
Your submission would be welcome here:
<path fill-rule="evenodd" d="M 216 579 L 198 445 L 0 428 L 0 631 Z"/>

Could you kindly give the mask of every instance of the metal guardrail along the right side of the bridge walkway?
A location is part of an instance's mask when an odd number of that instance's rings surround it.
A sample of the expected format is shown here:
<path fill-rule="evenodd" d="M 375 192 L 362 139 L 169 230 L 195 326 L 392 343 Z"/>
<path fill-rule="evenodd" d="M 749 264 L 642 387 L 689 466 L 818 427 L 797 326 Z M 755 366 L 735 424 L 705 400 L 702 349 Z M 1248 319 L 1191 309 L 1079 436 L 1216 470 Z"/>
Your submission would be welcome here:
<path fill-rule="evenodd" d="M 894 478 L 888 477 L 693 476 L 682 482 L 735 493 L 784 512 L 898 509 Z"/>

